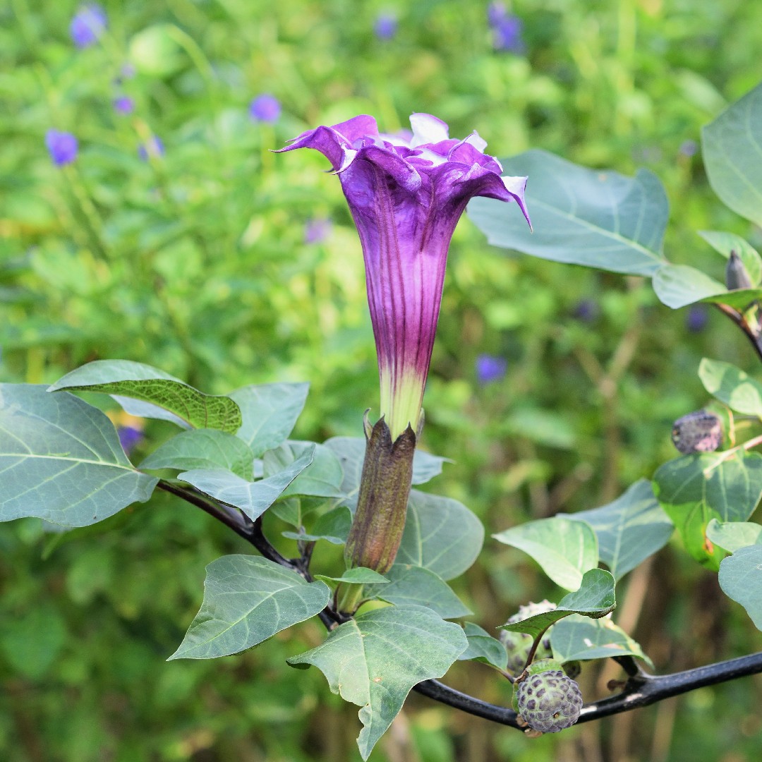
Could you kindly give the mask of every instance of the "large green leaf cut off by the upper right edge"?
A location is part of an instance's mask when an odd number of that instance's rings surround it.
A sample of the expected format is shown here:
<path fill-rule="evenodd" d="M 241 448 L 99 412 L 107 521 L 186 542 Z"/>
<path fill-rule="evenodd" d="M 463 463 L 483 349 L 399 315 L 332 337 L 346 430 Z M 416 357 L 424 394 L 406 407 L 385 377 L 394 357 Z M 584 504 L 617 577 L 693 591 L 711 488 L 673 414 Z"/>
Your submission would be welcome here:
<path fill-rule="evenodd" d="M 726 206 L 762 225 L 762 85 L 701 130 L 704 166 Z"/>

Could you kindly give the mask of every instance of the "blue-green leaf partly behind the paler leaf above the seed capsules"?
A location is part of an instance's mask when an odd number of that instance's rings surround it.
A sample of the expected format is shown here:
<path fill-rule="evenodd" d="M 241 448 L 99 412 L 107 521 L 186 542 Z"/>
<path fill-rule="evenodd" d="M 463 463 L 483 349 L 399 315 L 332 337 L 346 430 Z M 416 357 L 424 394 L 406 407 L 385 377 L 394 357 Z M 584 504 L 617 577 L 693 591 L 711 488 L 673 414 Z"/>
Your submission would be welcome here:
<path fill-rule="evenodd" d="M 617 580 L 664 547 L 674 531 L 647 479 L 639 479 L 613 503 L 565 515 L 593 527 L 600 560 Z"/>

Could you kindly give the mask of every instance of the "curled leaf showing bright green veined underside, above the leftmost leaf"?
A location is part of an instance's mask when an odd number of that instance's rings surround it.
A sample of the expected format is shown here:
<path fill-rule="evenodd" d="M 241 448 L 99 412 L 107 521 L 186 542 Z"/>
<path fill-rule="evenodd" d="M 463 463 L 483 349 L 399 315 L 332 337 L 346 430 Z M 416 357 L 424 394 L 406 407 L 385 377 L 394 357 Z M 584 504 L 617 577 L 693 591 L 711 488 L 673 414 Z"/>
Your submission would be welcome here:
<path fill-rule="evenodd" d="M 83 365 L 56 381 L 48 391 L 61 389 L 132 397 L 162 408 L 194 428 L 234 434 L 242 421 L 239 406 L 229 397 L 203 394 L 163 370 L 130 360 L 95 360 Z"/>

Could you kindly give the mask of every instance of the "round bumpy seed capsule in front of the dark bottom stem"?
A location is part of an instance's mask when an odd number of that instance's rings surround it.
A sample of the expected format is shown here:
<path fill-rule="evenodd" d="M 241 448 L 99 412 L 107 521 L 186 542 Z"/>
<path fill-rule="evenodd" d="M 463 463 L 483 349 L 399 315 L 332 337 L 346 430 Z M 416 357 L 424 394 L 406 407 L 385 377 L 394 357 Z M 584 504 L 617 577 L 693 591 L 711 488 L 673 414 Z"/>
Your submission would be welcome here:
<path fill-rule="evenodd" d="M 559 669 L 530 674 L 514 690 L 518 713 L 533 730 L 558 733 L 579 719 L 582 693 Z"/>

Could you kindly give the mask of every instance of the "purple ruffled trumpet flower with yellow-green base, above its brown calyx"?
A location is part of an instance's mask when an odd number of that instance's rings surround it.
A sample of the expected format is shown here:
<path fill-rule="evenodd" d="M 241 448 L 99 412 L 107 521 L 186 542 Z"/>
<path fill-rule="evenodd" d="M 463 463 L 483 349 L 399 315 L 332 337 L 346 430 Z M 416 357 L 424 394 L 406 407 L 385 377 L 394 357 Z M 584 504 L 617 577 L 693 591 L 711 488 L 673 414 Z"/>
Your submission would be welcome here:
<path fill-rule="evenodd" d="M 450 139 L 447 124 L 413 114 L 411 138 L 379 134 L 361 115 L 320 126 L 280 149 L 316 149 L 341 180 L 365 258 L 381 380 L 381 414 L 392 441 L 418 429 L 434 347 L 447 249 L 474 196 L 524 203 L 527 178 L 501 178 L 477 133 Z"/>

